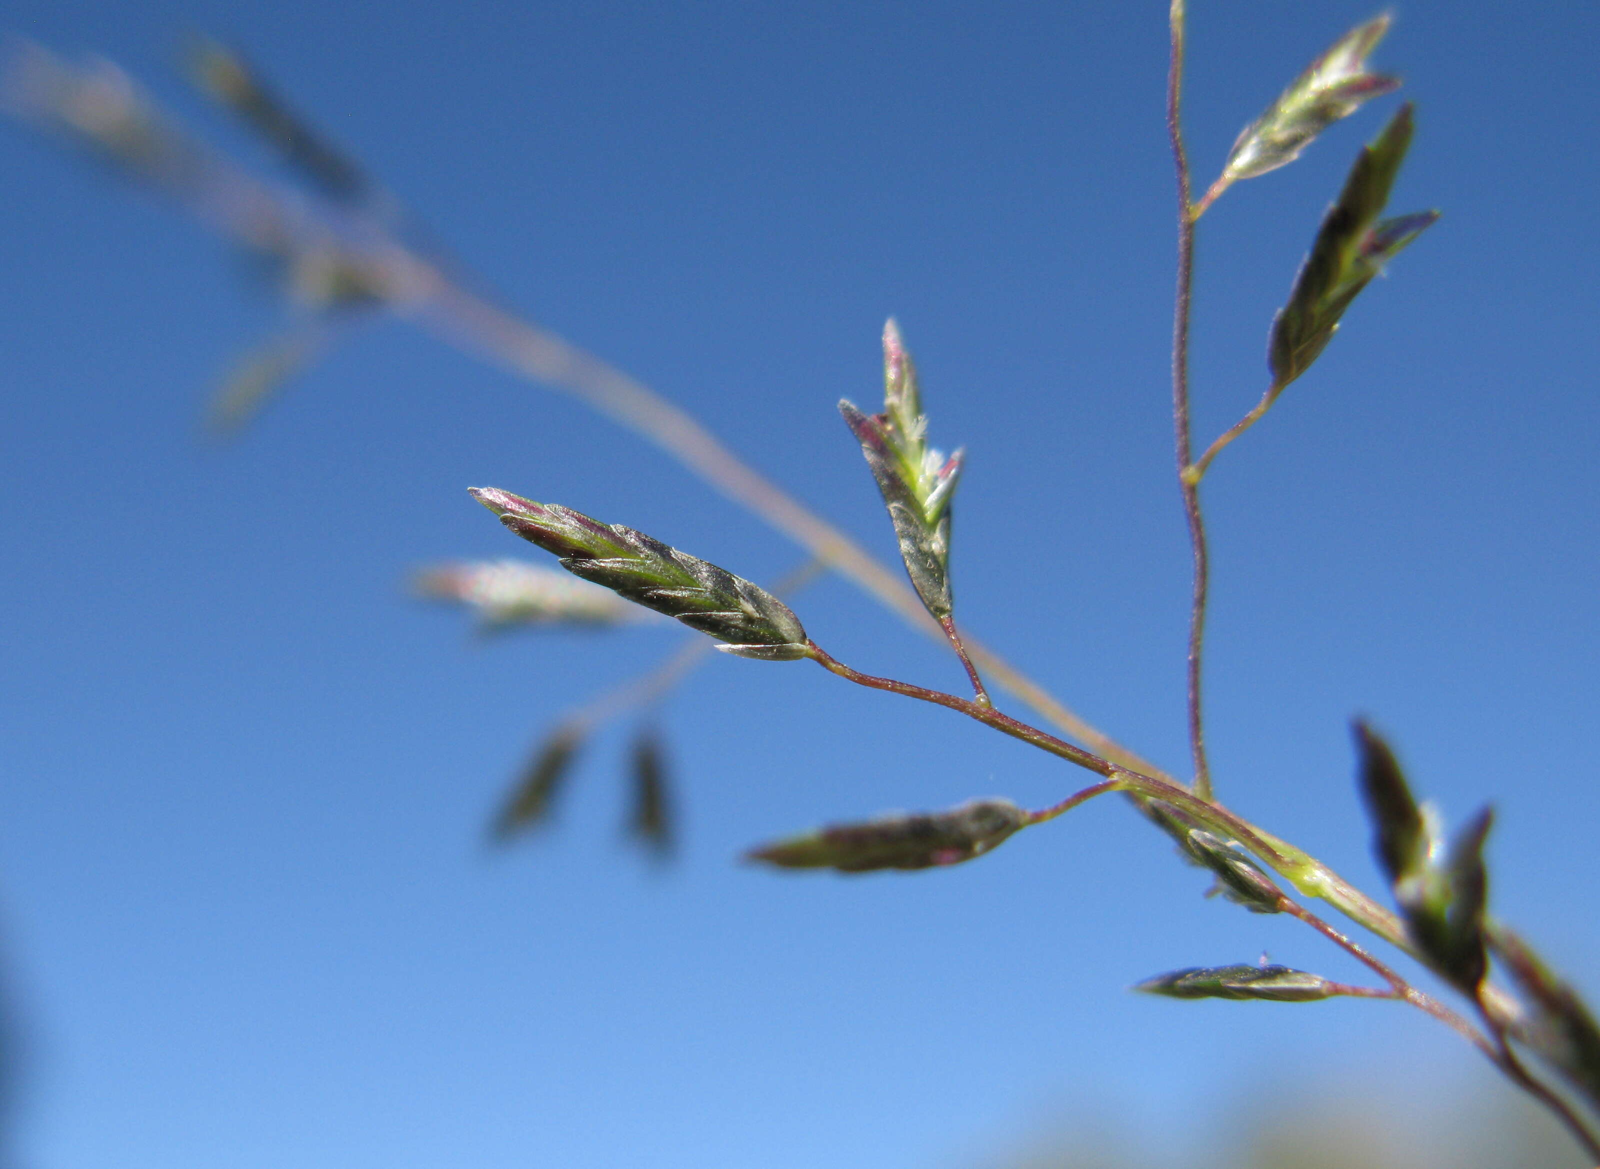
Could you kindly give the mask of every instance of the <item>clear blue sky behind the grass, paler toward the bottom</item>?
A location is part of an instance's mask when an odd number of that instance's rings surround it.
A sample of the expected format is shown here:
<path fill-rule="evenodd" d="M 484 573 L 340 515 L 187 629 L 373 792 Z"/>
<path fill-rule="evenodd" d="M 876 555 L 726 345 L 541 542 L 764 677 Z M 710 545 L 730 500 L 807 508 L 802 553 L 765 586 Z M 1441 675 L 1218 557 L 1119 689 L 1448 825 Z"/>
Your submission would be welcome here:
<path fill-rule="evenodd" d="M 1198 3 L 1189 128 L 1238 128 L 1370 10 Z M 1181 768 L 1187 545 L 1170 454 L 1165 5 L 13 0 L 192 126 L 181 34 L 232 38 L 510 302 L 685 403 L 883 555 L 834 401 L 899 317 L 970 453 L 968 624 Z M 1397 209 L 1443 221 L 1206 485 L 1224 798 L 1376 886 L 1346 723 L 1459 820 L 1494 904 L 1600 990 L 1600 10 L 1413 0 Z M 1206 217 L 1195 413 L 1264 387 L 1267 321 L 1395 99 Z M 678 633 L 475 643 L 406 571 L 522 550 L 464 488 L 629 523 L 755 579 L 798 555 L 643 441 L 400 323 L 230 446 L 206 387 L 278 307 L 214 238 L 0 126 L 0 899 L 40 1169 L 981 1163 L 1062 1118 L 1181 1164 L 1216 1115 L 1358 1079 L 1499 1091 L 1387 1004 L 1126 993 L 1261 950 L 1125 806 L 962 868 L 779 876 L 754 841 L 1082 774 L 813 667 L 714 660 L 672 702 L 680 864 L 619 843 L 627 728 L 533 846 L 490 809 L 568 704 Z M 848 587 L 795 606 L 862 668 L 960 686 Z"/>

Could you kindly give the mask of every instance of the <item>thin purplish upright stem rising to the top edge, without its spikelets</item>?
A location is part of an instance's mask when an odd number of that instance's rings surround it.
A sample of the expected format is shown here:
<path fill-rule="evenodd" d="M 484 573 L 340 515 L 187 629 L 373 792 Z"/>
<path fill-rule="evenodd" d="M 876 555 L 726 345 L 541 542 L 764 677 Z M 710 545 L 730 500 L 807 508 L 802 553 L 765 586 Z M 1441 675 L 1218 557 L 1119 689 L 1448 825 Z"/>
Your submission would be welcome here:
<path fill-rule="evenodd" d="M 1205 753 L 1205 723 L 1200 708 L 1202 652 L 1205 648 L 1205 608 L 1210 584 L 1210 563 L 1205 541 L 1205 520 L 1200 513 L 1197 481 L 1190 481 L 1190 424 L 1189 424 L 1189 309 L 1194 285 L 1195 257 L 1195 208 L 1189 195 L 1189 154 L 1184 149 L 1182 86 L 1184 86 L 1184 0 L 1173 0 L 1171 8 L 1171 62 L 1166 70 L 1166 134 L 1173 147 L 1173 166 L 1178 171 L 1178 293 L 1173 297 L 1173 430 L 1178 453 L 1178 489 L 1184 497 L 1184 517 L 1189 521 L 1189 544 L 1194 549 L 1194 592 L 1189 606 L 1189 752 L 1194 756 L 1195 795 L 1213 798 L 1211 764 Z"/>

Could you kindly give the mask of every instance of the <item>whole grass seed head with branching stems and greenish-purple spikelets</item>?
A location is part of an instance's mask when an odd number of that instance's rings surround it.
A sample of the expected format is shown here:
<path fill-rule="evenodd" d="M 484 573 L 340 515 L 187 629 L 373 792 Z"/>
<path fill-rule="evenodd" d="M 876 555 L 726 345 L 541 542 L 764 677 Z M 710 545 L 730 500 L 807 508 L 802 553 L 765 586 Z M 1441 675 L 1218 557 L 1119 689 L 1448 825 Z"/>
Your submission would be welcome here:
<path fill-rule="evenodd" d="M 1283 398 L 1333 342 L 1374 277 L 1438 217 L 1390 213 L 1390 187 L 1406 157 L 1414 112 L 1403 104 L 1355 157 L 1341 190 L 1310 233 L 1309 253 L 1267 329 L 1266 389 L 1259 403 L 1203 446 L 1190 422 L 1189 345 L 1197 227 L 1238 182 L 1293 163 L 1334 122 L 1398 88 L 1368 59 L 1389 30 L 1370 19 L 1334 42 L 1240 133 L 1221 173 L 1195 197 L 1182 130 L 1184 0 L 1170 10 L 1166 125 L 1176 178 L 1176 294 L 1171 401 L 1176 488 L 1192 549 L 1187 638 L 1190 772 L 1173 776 L 1090 726 L 1038 683 L 979 644 L 955 619 L 952 565 L 962 453 L 930 445 L 930 414 L 899 326 L 883 329 L 883 401 L 869 413 L 838 409 L 864 454 L 899 547 L 904 579 L 883 566 L 760 472 L 736 457 L 699 419 L 600 358 L 483 297 L 458 280 L 456 265 L 427 243 L 398 203 L 365 170 L 314 131 L 235 51 L 211 42 L 194 50 L 205 93 L 258 131 L 299 174 L 306 198 L 288 201 L 224 155 L 176 130 L 115 67 L 77 66 L 26 48 L 13 61 L 8 101 L 24 117 L 64 131 L 118 168 L 179 198 L 200 217 L 275 265 L 293 320 L 246 355 L 219 392 L 213 424 L 235 429 L 269 393 L 352 321 L 390 312 L 462 349 L 578 397 L 674 454 L 688 469 L 790 537 L 806 555 L 800 574 L 773 590 L 674 549 L 632 528 L 603 523 L 566 505 L 533 502 L 502 488 L 474 497 L 509 533 L 557 557 L 586 585 L 560 587 L 547 569 L 446 566 L 419 577 L 430 596 L 474 606 L 485 627 L 518 624 L 614 625 L 622 601 L 677 619 L 717 649 L 758 662 L 810 662 L 854 686 L 933 704 L 1018 739 L 1090 782 L 1051 806 L 1024 809 L 981 800 L 942 811 L 834 824 L 750 849 L 749 859 L 782 870 L 843 873 L 922 870 L 971 864 L 1019 832 L 1043 828 L 1080 804 L 1118 793 L 1165 833 L 1182 862 L 1205 870 L 1216 891 L 1262 915 L 1288 915 L 1344 950 L 1371 974 L 1336 982 L 1275 964 L 1187 968 L 1138 988 L 1170 998 L 1309 1003 L 1330 998 L 1390 1001 L 1453 1028 L 1515 1087 L 1554 1113 L 1586 1155 L 1600 1163 L 1600 1027 L 1571 982 L 1490 908 L 1485 808 L 1446 833 L 1438 812 L 1413 795 L 1394 750 L 1368 724 L 1355 724 L 1357 790 L 1389 889 L 1368 894 L 1307 851 L 1222 803 L 1205 736 L 1205 633 L 1210 545 L 1202 488 L 1222 453 Z M 520 486 L 520 485 L 517 485 Z M 819 571 L 837 573 L 912 628 L 949 644 L 968 692 L 947 692 L 877 676 L 818 644 L 782 595 Z M 602 590 L 611 590 L 610 593 Z M 674 686 L 701 651 L 690 646 L 650 676 L 562 720 L 494 819 L 512 838 L 538 824 L 570 772 L 587 734 L 622 710 L 648 707 Z M 757 668 L 757 667 L 749 667 Z M 1018 704 L 1010 707 L 1010 704 Z M 1008 708 L 1010 707 L 1010 708 Z M 1024 718 L 1022 707 L 1034 713 Z M 634 830 L 669 848 L 670 796 L 661 744 L 643 732 L 632 753 Z M 1389 904 L 1386 904 L 1386 900 Z M 1310 905 L 1320 902 L 1314 910 Z M 1347 924 L 1334 924 L 1344 918 Z M 1390 958 L 1429 971 L 1450 1001 L 1421 990 Z"/>

